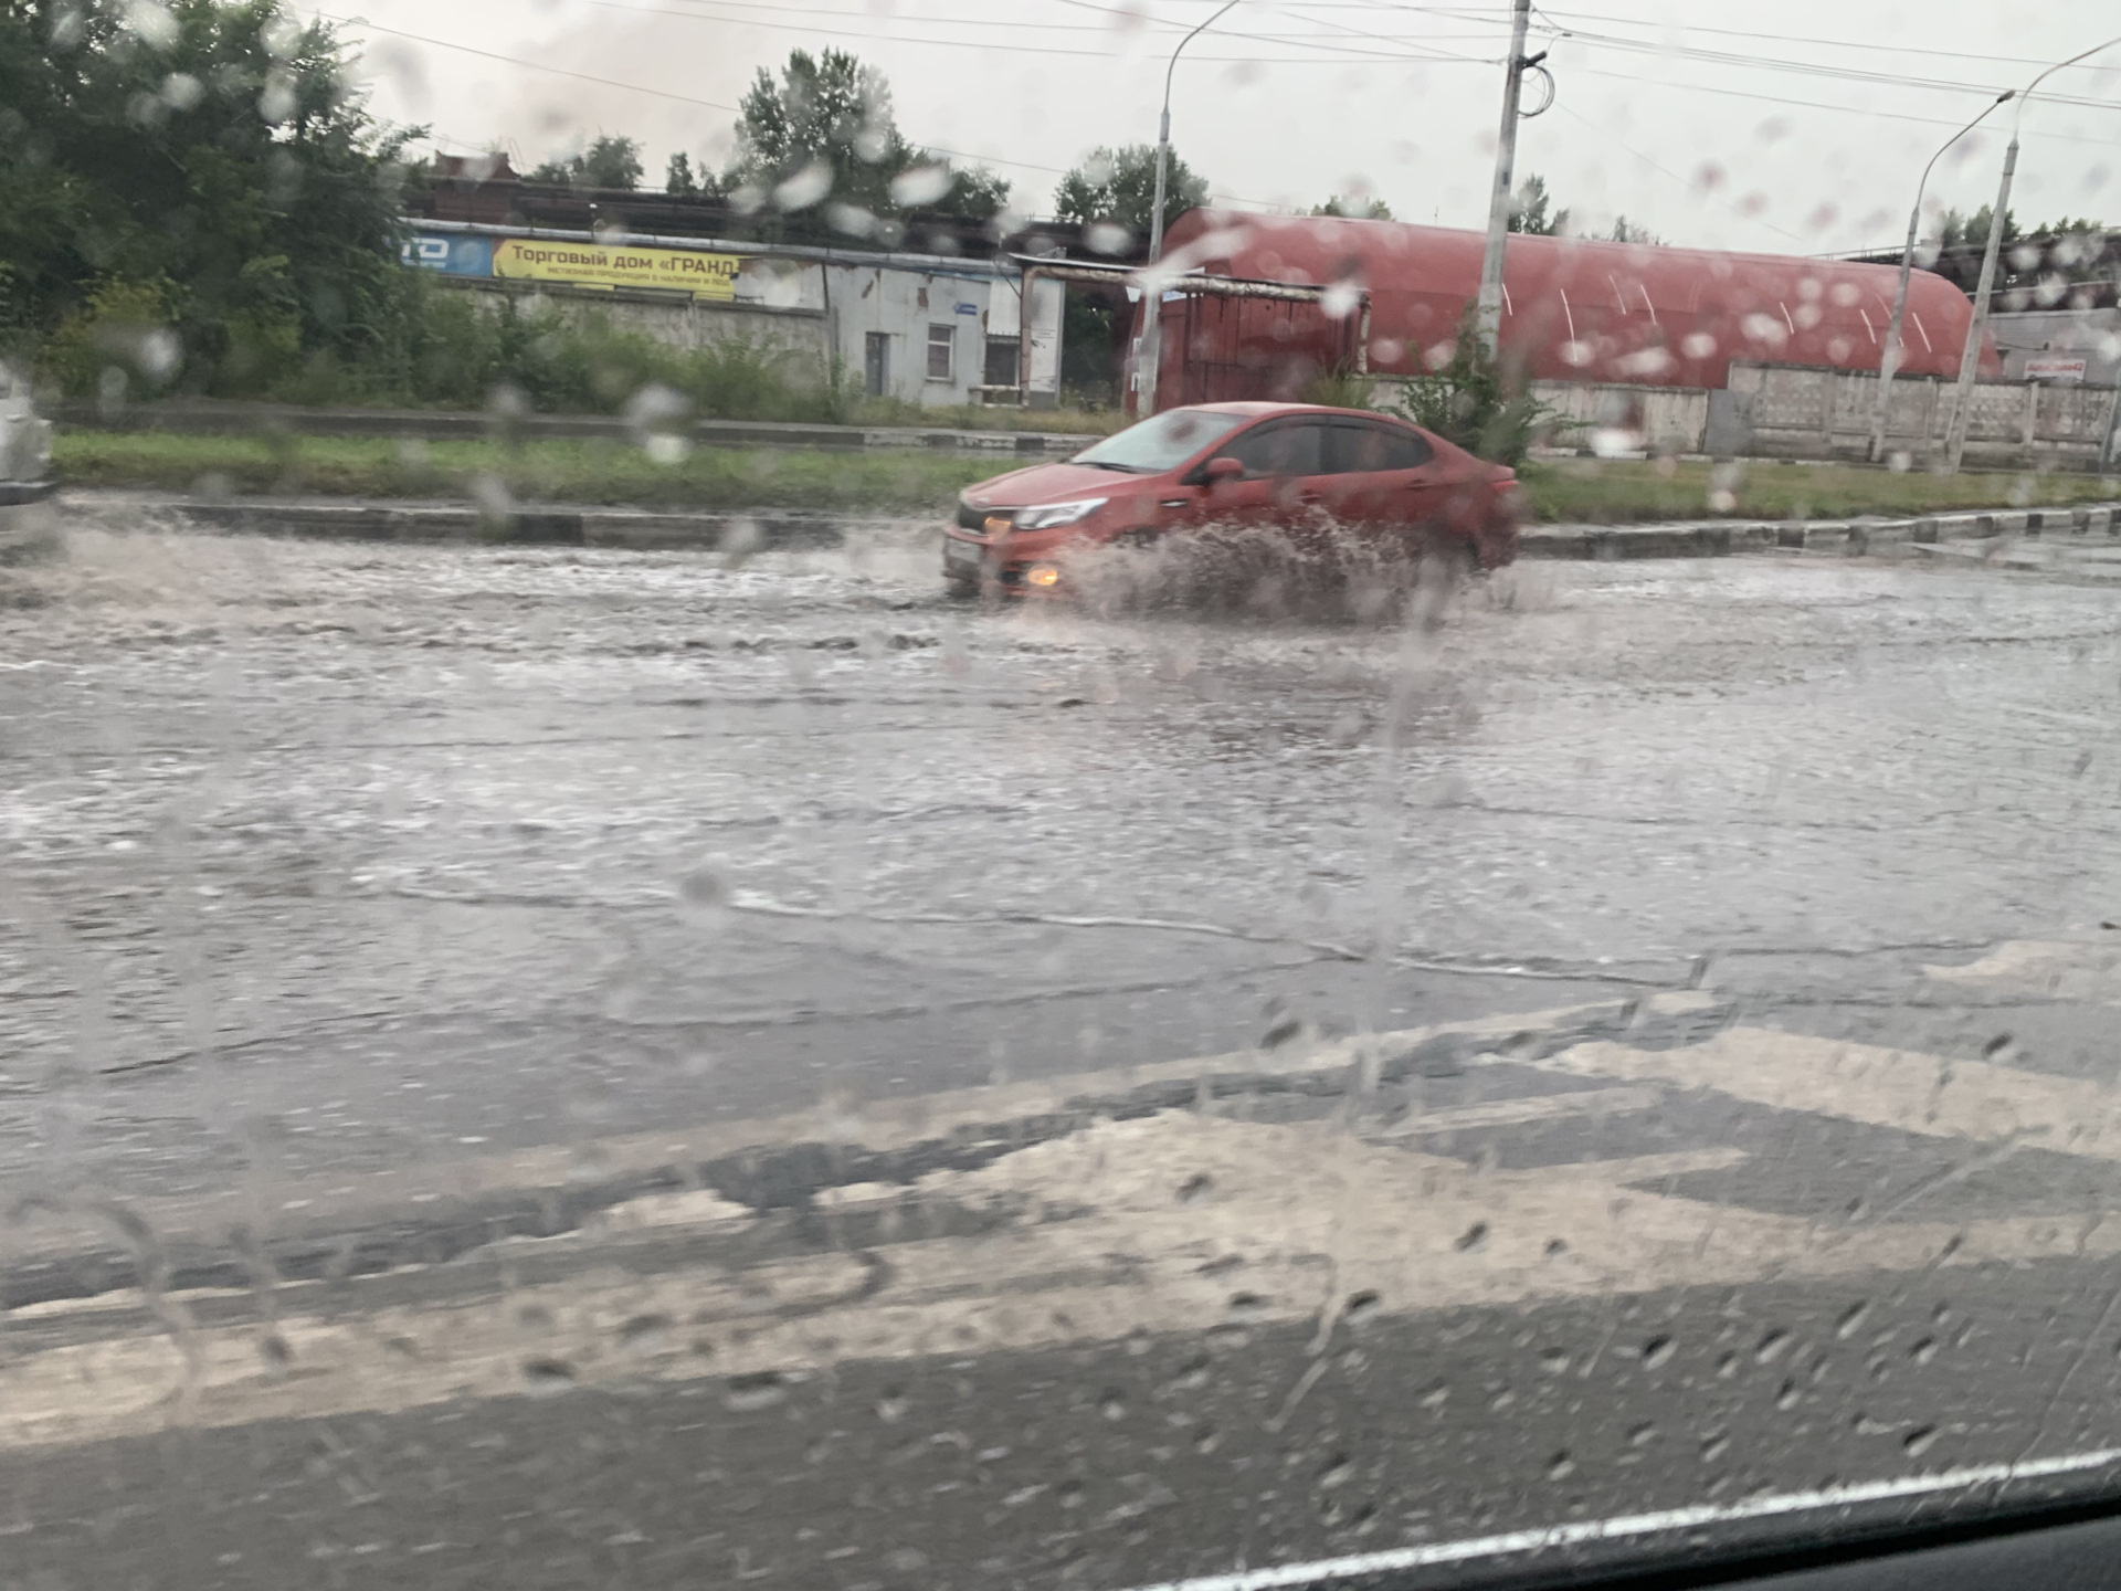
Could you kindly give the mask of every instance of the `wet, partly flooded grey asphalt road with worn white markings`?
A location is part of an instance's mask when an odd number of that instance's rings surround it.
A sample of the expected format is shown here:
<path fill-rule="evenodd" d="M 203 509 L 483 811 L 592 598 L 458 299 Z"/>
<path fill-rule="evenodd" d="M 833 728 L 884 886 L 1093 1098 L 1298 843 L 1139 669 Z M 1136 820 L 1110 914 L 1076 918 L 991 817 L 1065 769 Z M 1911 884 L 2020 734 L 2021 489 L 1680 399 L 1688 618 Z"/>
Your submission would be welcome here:
<path fill-rule="evenodd" d="M 0 1587 L 2104 1485 L 2117 689 L 2108 564 L 2011 547 L 1396 628 L 76 528 L 0 571 Z"/>

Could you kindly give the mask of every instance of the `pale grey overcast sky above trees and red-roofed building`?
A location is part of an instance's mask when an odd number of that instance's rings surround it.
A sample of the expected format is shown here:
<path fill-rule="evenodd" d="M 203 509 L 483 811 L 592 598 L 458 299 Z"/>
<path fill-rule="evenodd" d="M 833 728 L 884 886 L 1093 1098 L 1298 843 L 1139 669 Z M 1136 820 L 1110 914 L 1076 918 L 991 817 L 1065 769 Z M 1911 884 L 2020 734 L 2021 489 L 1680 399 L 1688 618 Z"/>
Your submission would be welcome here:
<path fill-rule="evenodd" d="M 378 112 L 431 125 L 439 148 L 534 163 L 632 134 L 651 180 L 677 148 L 719 168 L 753 72 L 836 45 L 887 72 L 908 138 L 991 163 L 1012 208 L 1050 214 L 1094 144 L 1154 142 L 1171 49 L 1220 0 L 297 4 L 354 19 Z M 1676 244 L 1771 252 L 1898 242 L 1956 127 L 2121 34 L 2113 0 L 1584 4 L 1533 8 L 1557 95 L 1523 125 L 1519 174 L 1595 227 L 1618 212 Z M 1366 191 L 1406 221 L 1476 227 L 1506 45 L 1506 0 L 1239 0 L 1179 62 L 1173 144 L 1232 204 Z M 1939 161 L 1934 202 L 1994 195 L 2013 108 Z M 2021 138 L 2021 221 L 2121 223 L 2121 47 L 2047 78 Z"/>

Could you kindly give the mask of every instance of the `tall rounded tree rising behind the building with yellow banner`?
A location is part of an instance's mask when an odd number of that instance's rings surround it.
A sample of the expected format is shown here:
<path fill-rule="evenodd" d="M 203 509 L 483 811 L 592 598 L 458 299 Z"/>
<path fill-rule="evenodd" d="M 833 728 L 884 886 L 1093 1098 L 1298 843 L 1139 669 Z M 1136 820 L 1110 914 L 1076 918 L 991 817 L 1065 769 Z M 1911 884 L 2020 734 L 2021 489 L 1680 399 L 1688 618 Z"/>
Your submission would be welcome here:
<path fill-rule="evenodd" d="M 725 182 L 755 206 L 808 210 L 831 197 L 872 216 L 921 210 L 988 221 L 1010 197 L 993 172 L 959 172 L 910 144 L 891 108 L 891 83 L 842 49 L 789 51 L 778 83 L 759 68 L 736 121 Z"/>

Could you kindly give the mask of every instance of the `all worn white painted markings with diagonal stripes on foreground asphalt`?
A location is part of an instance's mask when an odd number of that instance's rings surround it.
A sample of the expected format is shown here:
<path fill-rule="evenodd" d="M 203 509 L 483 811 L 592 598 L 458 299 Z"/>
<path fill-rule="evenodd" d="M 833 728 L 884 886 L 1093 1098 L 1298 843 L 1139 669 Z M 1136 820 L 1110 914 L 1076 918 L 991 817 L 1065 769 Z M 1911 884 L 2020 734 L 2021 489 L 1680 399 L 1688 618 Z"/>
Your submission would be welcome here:
<path fill-rule="evenodd" d="M 1680 997 L 1646 1010 L 1671 1016 L 1699 1006 Z M 1574 1018 L 1459 1031 L 1502 1042 L 1561 1020 Z M 1408 1037 L 1249 1063 L 1281 1076 L 1360 1069 L 1364 1054 Z M 1241 1061 L 1173 1061 L 1103 1082 L 1222 1076 Z M 1383 1129 L 1353 1109 L 1273 1122 L 1232 1118 L 1241 1107 L 1088 1120 L 912 1186 L 840 1188 L 819 1201 L 821 1218 L 853 1222 L 844 1230 L 867 1237 L 848 1243 L 874 1247 L 785 1252 L 740 1271 L 628 1271 L 630 1245 L 770 1230 L 715 1192 L 651 1194 L 607 1211 L 594 1230 L 539 1243 L 556 1260 L 547 1273 L 564 1279 L 498 1298 L 467 1300 L 437 1283 L 435 1298 L 409 1302 L 403 1279 L 378 1279 L 341 1283 L 327 1311 L 310 1302 L 320 1292 L 284 1288 L 276 1326 L 284 1353 L 274 1356 L 261 1353 L 257 1324 L 197 1326 L 176 1341 L 138 1332 L 112 1313 L 138 1298 L 30 1311 L 51 1326 L 74 1317 L 81 1336 L 102 1336 L 0 1364 L 0 1447 L 144 1434 L 172 1421 L 240 1426 L 513 1396 L 526 1364 L 564 1364 L 579 1383 L 814 1375 L 857 1360 L 1109 1343 L 1215 1322 L 1334 1322 L 1355 1294 L 1374 1296 L 1381 1313 L 1410 1315 L 2121 1254 L 2121 1201 L 2115 1220 L 2098 1209 L 2068 1220 L 2009 1211 L 1881 1220 L 1822 1241 L 1809 1213 L 1716 1201 L 1716 1175 L 1748 1162 L 1733 1146 L 1495 1171 L 1425 1143 L 1447 1131 L 1644 1116 L 1673 1090 L 1714 1090 L 1941 1141 L 2121 1158 L 2117 1097 L 2098 1082 L 1756 1027 L 1667 1050 L 1576 1044 L 1529 1065 L 1608 1086 L 1425 1109 Z M 1001 1084 L 781 1129 L 808 1135 L 791 1141 L 916 1143 L 963 1124 L 993 1126 L 1007 1116 L 1003 1103 L 1041 1101 L 1050 1107 L 1052 1090 Z M 935 1230 L 933 1209 L 980 1220 L 963 1222 L 963 1235 L 923 1237 Z M 566 1264 L 571 1254 L 581 1264 Z"/>

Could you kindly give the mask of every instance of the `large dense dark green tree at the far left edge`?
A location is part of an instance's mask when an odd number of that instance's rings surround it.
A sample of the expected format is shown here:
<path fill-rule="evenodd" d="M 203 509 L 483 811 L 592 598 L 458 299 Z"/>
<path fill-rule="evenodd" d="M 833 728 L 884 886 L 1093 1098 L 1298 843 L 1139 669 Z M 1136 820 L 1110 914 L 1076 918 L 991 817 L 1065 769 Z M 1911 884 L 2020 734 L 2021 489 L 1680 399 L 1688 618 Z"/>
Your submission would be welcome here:
<path fill-rule="evenodd" d="M 414 136 L 373 121 L 335 32 L 280 0 L 6 0 L 11 318 L 91 367 L 229 392 L 373 346 L 405 303 Z"/>

